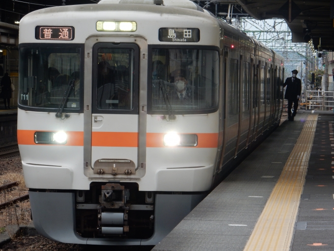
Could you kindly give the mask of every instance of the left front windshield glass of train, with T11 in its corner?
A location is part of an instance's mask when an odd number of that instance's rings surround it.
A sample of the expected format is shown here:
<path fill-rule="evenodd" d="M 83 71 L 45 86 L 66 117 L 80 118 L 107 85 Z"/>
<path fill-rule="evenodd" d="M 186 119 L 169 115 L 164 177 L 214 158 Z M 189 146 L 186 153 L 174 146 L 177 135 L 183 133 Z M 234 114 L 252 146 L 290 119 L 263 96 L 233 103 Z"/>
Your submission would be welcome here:
<path fill-rule="evenodd" d="M 20 105 L 58 108 L 65 100 L 64 111 L 78 110 L 80 79 L 80 47 L 20 48 Z"/>

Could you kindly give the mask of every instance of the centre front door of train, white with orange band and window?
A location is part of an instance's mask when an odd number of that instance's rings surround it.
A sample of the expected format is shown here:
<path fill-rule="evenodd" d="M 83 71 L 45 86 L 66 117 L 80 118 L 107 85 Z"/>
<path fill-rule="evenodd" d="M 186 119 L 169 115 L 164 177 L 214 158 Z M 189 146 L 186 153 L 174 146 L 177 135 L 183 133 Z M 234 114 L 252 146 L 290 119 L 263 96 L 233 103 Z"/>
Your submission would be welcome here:
<path fill-rule="evenodd" d="M 139 47 L 93 47 L 91 166 L 97 174 L 134 174 L 138 167 Z"/>

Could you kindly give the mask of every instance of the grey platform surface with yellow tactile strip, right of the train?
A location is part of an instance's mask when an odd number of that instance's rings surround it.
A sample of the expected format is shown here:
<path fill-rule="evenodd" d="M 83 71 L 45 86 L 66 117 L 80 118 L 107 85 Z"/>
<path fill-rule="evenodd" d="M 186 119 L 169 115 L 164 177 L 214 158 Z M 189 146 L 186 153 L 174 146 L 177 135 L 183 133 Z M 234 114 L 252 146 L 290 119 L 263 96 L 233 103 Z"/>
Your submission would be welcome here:
<path fill-rule="evenodd" d="M 152 251 L 333 251 L 333 127 L 299 111 Z"/>

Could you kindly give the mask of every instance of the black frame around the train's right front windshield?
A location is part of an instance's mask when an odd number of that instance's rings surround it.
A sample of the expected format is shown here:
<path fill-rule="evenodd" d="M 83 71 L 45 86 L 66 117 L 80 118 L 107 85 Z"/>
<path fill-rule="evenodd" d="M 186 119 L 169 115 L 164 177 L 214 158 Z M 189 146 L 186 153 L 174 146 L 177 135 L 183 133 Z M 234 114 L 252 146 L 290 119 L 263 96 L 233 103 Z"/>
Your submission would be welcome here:
<path fill-rule="evenodd" d="M 217 105 L 210 109 L 194 109 L 194 110 L 173 110 L 174 115 L 188 115 L 188 114 L 209 114 L 218 111 L 219 108 L 219 90 L 221 88 L 221 72 L 220 72 L 220 48 L 218 46 L 201 46 L 201 45 L 161 45 L 161 44 L 150 44 L 148 45 L 148 67 L 147 67 L 147 114 L 150 115 L 164 115 L 168 114 L 167 108 L 166 110 L 152 110 L 152 56 L 153 56 L 153 49 L 171 49 L 171 50 L 183 50 L 183 49 L 196 49 L 196 50 L 212 50 L 218 53 L 218 102 Z"/>

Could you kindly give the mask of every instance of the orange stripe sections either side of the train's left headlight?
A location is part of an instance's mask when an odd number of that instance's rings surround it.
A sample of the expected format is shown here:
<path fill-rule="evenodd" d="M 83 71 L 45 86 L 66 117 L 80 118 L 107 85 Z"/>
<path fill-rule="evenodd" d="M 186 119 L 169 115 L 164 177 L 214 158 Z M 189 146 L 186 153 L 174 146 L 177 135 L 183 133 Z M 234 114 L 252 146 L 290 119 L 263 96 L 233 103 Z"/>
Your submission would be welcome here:
<path fill-rule="evenodd" d="M 19 145 L 37 145 L 34 141 L 34 133 L 36 131 L 37 130 L 17 130 L 17 143 Z M 66 144 L 58 146 L 83 146 L 83 131 L 66 131 L 66 134 Z"/>

